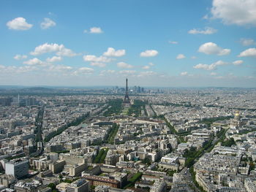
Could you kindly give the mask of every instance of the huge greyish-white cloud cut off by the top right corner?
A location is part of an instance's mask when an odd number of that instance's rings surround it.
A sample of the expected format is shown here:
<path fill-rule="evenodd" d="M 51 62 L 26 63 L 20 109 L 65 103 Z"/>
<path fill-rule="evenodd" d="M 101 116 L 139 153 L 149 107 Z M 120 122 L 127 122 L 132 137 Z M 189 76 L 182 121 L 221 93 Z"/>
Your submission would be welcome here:
<path fill-rule="evenodd" d="M 256 25 L 255 0 L 213 0 L 211 14 L 225 24 Z"/>

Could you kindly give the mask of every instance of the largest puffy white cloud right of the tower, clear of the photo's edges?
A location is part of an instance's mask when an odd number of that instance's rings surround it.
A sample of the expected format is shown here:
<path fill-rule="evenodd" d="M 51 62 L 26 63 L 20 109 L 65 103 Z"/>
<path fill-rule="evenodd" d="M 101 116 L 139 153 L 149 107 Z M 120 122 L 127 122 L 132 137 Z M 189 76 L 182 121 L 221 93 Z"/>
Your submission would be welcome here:
<path fill-rule="evenodd" d="M 198 51 L 207 55 L 228 55 L 231 52 L 230 49 L 223 49 L 213 42 L 206 42 L 199 47 Z"/>

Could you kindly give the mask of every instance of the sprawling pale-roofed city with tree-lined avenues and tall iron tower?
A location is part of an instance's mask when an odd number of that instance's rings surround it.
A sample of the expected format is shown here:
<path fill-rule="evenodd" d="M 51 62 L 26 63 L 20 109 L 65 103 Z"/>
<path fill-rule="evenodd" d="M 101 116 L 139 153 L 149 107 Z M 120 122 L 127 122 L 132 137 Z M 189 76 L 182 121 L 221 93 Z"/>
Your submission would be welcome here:
<path fill-rule="evenodd" d="M 2 191 L 255 191 L 256 89 L 11 88 Z"/>

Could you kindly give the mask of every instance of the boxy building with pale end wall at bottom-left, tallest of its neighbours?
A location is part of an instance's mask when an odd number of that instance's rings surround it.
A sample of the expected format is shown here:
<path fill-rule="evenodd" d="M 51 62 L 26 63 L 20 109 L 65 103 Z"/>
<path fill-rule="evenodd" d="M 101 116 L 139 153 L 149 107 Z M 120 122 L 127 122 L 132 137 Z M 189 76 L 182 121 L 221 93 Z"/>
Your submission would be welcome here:
<path fill-rule="evenodd" d="M 12 174 L 16 178 L 25 177 L 29 174 L 29 160 L 15 159 L 5 164 L 5 174 Z"/>

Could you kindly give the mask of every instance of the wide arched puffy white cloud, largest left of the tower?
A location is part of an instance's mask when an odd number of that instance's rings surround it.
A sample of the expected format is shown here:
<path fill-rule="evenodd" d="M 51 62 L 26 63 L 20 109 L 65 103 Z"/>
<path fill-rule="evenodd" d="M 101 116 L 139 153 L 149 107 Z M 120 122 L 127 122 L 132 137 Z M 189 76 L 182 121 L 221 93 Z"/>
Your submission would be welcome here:
<path fill-rule="evenodd" d="M 67 49 L 64 45 L 58 45 L 56 43 L 51 43 L 48 44 L 45 43 L 43 45 L 39 45 L 34 48 L 34 51 L 32 51 L 30 54 L 31 55 L 41 55 L 43 53 L 52 53 L 52 52 L 57 52 L 56 55 L 59 56 L 67 56 L 67 57 L 72 57 L 75 55 L 78 55 L 74 53 L 72 50 Z"/>

